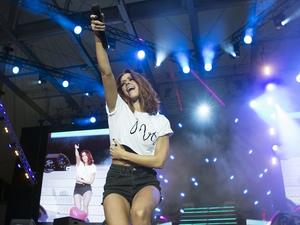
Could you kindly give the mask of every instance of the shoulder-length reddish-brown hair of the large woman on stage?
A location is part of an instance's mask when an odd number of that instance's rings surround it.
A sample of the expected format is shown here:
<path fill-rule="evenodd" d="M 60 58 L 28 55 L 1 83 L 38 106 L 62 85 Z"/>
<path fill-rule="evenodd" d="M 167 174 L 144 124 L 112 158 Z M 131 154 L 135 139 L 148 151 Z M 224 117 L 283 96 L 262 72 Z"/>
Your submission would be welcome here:
<path fill-rule="evenodd" d="M 133 105 L 126 97 L 122 91 L 122 86 L 121 86 L 121 78 L 125 73 L 130 73 L 131 77 L 139 86 L 140 94 L 139 94 L 139 102 L 141 104 L 141 108 L 143 111 L 149 113 L 150 115 L 155 115 L 157 114 L 159 110 L 159 99 L 157 97 L 156 91 L 152 88 L 151 84 L 147 79 L 145 79 L 141 74 L 130 70 L 126 69 L 124 72 L 122 72 L 119 77 L 117 78 L 117 88 L 118 88 L 118 93 L 119 95 L 124 99 L 124 101 L 127 102 L 129 105 L 130 109 L 134 111 Z"/>

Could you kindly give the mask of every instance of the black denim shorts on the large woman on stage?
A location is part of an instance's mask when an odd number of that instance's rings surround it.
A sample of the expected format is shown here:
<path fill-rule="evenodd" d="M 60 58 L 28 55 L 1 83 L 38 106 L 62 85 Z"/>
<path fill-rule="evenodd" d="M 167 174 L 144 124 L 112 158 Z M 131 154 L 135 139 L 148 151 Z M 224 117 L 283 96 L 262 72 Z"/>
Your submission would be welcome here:
<path fill-rule="evenodd" d="M 112 164 L 106 176 L 103 201 L 107 195 L 117 193 L 126 198 L 131 204 L 135 194 L 143 187 L 149 185 L 155 186 L 159 192 L 161 191 L 154 169 L 142 166 Z"/>

